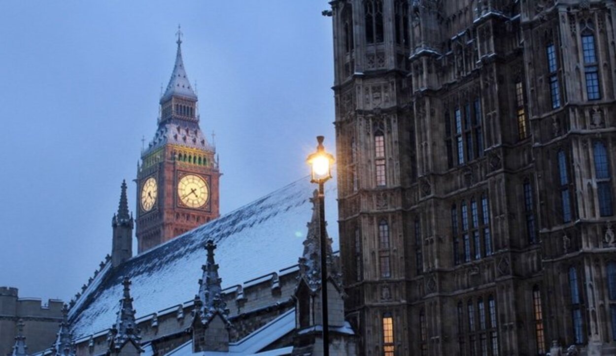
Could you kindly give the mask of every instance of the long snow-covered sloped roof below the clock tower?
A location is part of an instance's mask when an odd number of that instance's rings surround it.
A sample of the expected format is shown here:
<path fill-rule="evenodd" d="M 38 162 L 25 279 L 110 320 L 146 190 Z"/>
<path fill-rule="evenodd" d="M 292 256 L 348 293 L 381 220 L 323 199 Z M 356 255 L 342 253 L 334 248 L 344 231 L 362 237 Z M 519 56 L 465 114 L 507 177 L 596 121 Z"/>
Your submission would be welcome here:
<path fill-rule="evenodd" d="M 326 185 L 325 209 L 334 250 L 338 249 L 335 181 Z M 105 266 L 71 309 L 73 337 L 79 339 L 113 325 L 124 277 L 132 282 L 137 318 L 192 301 L 198 292 L 201 265 L 206 261 L 203 246 L 209 239 L 217 245 L 222 288 L 297 264 L 312 214 L 309 198 L 314 189 L 305 177 L 132 257 L 116 269 Z"/>

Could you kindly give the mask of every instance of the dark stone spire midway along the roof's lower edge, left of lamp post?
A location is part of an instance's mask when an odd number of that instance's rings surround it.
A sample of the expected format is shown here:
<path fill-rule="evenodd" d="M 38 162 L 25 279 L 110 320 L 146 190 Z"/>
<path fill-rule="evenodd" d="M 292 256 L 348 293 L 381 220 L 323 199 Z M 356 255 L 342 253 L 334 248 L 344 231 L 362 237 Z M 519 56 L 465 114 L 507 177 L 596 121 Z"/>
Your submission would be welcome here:
<path fill-rule="evenodd" d="M 230 325 L 229 309 L 224 299 L 222 299 L 222 279 L 218 277 L 218 265 L 214 262 L 214 241 L 208 240 L 205 244 L 208 250 L 208 261 L 201 266 L 203 277 L 199 280 L 199 294 L 195 296 L 195 305 L 198 307 L 198 316 L 201 317 L 201 322 L 207 325 L 214 315 L 218 314 L 222 319 Z"/>

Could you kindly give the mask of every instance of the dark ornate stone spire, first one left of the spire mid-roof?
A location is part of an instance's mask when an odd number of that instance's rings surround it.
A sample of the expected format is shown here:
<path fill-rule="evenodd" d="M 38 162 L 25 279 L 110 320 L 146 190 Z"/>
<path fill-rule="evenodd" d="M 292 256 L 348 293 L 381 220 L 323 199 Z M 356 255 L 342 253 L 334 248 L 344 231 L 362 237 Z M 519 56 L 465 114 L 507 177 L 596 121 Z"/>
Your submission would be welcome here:
<path fill-rule="evenodd" d="M 131 281 L 128 277 L 124 277 L 122 284 L 124 294 L 120 299 L 118 318 L 107 336 L 107 341 L 109 341 L 108 353 L 120 352 L 127 342 L 132 342 L 138 350 L 141 349 L 141 336 L 139 336 L 139 328 L 135 325 L 135 309 L 132 307 Z"/>

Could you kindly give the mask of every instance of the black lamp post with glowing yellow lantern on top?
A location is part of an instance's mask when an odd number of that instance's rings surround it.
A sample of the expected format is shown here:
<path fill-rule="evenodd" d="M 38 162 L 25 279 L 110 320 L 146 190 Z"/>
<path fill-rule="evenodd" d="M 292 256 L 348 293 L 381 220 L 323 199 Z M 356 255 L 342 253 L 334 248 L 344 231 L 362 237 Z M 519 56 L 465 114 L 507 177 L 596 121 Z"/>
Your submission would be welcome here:
<path fill-rule="evenodd" d="M 307 163 L 310 165 L 310 182 L 318 184 L 318 224 L 321 242 L 321 307 L 323 323 L 323 355 L 330 355 L 330 321 L 328 320 L 327 305 L 327 250 L 325 236 L 325 182 L 331 178 L 331 166 L 334 156 L 325 152 L 323 136 L 317 136 L 317 152 L 308 156 Z"/>

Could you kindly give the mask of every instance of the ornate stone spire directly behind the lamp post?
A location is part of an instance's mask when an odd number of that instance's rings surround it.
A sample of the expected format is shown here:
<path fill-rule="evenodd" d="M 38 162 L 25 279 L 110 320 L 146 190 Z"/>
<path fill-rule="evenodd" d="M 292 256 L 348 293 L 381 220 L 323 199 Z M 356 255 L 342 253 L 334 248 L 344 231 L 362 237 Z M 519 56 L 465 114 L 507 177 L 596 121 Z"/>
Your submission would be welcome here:
<path fill-rule="evenodd" d="M 306 281 L 306 284 L 316 291 L 321 286 L 321 239 L 319 232 L 319 202 L 318 190 L 314 190 L 314 195 L 310 198 L 312 202 L 312 219 L 307 224 L 308 233 L 304 240 L 304 253 L 299 257 L 299 278 Z M 325 223 L 327 224 L 327 223 Z M 342 273 L 340 272 L 340 264 L 338 257 L 333 256 L 331 250 L 331 238 L 325 230 L 327 246 L 325 246 L 327 254 L 327 271 L 331 281 L 342 290 Z"/>

